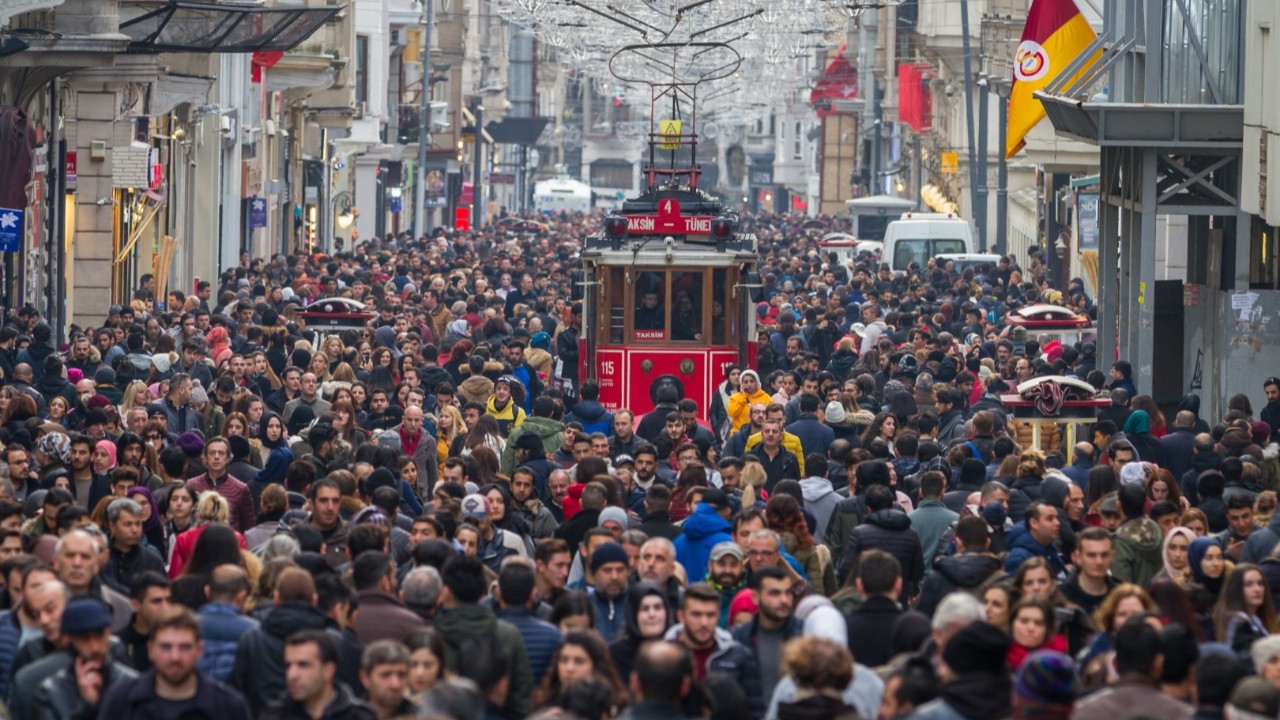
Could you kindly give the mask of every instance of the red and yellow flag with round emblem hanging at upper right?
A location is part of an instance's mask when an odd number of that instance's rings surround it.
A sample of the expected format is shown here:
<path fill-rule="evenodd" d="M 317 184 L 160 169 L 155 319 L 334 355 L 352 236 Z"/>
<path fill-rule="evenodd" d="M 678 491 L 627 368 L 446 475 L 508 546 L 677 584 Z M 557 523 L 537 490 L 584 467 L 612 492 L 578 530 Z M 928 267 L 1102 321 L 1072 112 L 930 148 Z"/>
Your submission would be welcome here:
<path fill-rule="evenodd" d="M 1075 0 L 1033 0 L 1023 41 L 1014 54 L 1006 158 L 1023 149 L 1023 138 L 1044 118 L 1044 105 L 1034 92 L 1057 78 L 1096 37 Z"/>

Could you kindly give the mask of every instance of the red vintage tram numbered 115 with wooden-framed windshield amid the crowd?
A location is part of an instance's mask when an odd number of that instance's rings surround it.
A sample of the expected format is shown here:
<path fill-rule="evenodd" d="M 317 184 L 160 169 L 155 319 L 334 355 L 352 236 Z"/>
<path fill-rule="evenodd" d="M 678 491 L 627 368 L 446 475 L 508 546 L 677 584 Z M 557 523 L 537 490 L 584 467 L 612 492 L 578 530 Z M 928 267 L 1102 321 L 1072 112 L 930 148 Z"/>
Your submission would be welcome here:
<path fill-rule="evenodd" d="M 648 413 L 671 377 L 705 420 L 724 368 L 755 361 L 755 236 L 686 177 L 626 201 L 582 251 L 581 377 L 611 411 Z"/>

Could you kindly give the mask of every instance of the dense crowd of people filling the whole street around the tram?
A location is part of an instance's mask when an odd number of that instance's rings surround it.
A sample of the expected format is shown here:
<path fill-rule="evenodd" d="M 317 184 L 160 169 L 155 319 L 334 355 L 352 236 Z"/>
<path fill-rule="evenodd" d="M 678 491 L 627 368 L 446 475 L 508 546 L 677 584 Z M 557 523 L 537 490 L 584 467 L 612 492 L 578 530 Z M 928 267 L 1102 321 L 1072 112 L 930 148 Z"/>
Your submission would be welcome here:
<path fill-rule="evenodd" d="M 1009 324 L 1096 313 L 1038 255 L 895 274 L 762 215 L 756 366 L 611 409 L 599 218 L 547 220 L 143 275 L 65 343 L 10 310 L 9 716 L 1280 716 L 1280 379 L 1161 407 Z M 1062 375 L 1110 398 L 1075 445 L 1004 397 Z"/>

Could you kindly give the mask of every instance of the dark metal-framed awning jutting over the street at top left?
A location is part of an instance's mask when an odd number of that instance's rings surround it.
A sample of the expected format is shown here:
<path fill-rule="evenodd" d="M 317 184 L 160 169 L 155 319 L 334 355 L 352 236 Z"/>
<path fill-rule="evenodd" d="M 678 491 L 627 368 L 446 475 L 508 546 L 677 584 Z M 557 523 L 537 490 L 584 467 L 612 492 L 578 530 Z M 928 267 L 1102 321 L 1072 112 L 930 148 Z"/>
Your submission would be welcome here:
<path fill-rule="evenodd" d="M 131 53 L 261 53 L 292 50 L 346 5 L 260 5 L 170 1 L 120 23 Z"/>

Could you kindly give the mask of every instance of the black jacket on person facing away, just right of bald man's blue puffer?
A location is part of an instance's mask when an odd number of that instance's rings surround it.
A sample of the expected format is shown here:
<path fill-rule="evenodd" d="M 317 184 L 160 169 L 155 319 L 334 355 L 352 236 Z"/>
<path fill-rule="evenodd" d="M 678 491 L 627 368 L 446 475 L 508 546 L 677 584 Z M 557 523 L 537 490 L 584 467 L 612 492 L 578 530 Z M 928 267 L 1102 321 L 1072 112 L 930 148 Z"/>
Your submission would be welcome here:
<path fill-rule="evenodd" d="M 306 602 L 285 602 L 262 625 L 244 633 L 236 648 L 230 685 L 250 707 L 266 707 L 284 696 L 284 641 L 298 630 L 325 629 L 324 615 Z"/>

